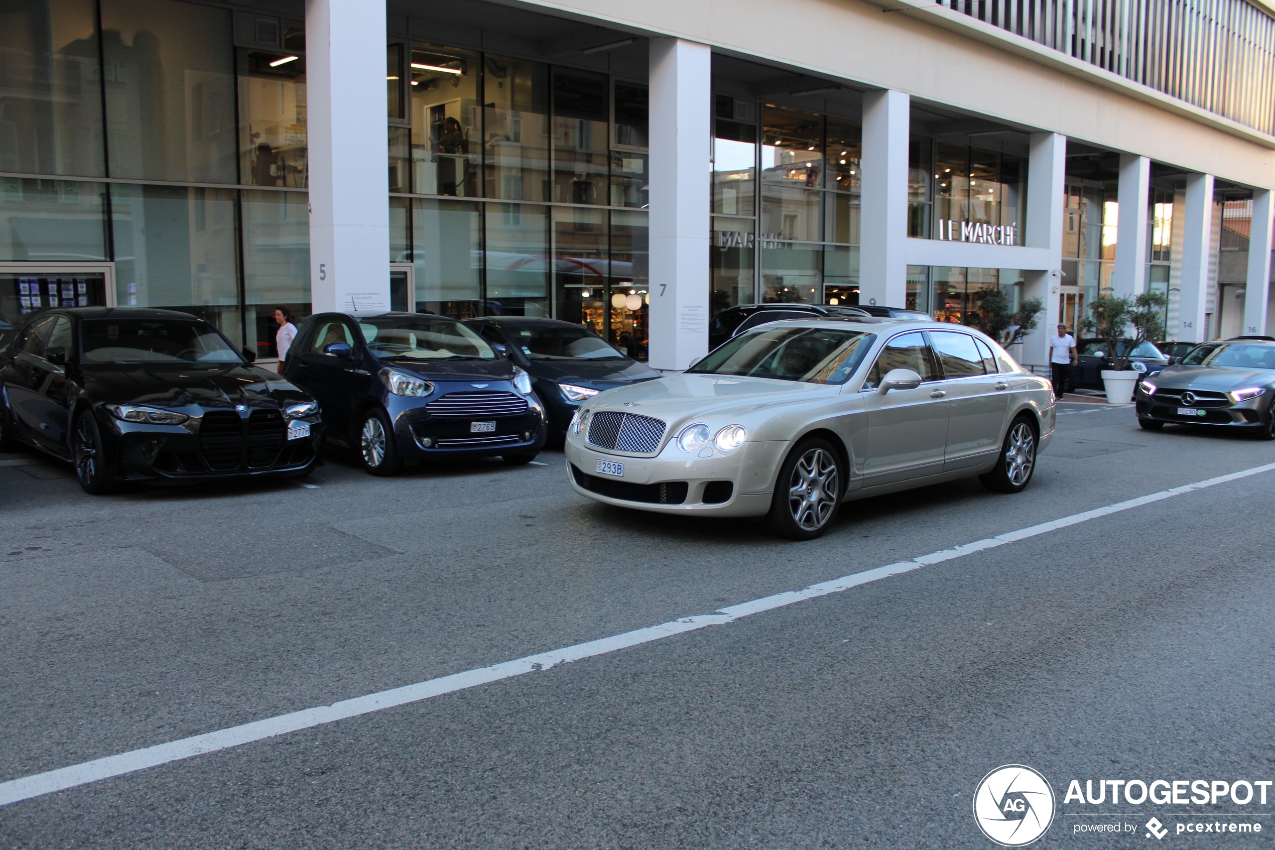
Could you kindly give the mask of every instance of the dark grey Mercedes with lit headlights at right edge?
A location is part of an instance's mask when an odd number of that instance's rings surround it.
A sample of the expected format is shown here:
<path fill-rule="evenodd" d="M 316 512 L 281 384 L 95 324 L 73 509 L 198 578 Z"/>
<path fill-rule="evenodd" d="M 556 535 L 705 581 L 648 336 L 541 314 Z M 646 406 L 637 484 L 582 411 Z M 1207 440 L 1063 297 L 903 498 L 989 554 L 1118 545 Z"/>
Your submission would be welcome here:
<path fill-rule="evenodd" d="M 1182 363 L 1139 382 L 1137 423 L 1242 428 L 1275 440 L 1275 343 L 1228 340 L 1196 345 Z"/>

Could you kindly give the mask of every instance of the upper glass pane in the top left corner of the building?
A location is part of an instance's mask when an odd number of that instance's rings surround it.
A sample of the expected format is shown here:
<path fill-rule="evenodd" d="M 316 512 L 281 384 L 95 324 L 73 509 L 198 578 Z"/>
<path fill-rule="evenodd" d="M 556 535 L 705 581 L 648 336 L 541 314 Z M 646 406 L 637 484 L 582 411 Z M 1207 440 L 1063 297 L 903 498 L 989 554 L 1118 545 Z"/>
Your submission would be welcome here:
<path fill-rule="evenodd" d="M 0 171 L 106 175 L 92 0 L 6 4 Z"/>

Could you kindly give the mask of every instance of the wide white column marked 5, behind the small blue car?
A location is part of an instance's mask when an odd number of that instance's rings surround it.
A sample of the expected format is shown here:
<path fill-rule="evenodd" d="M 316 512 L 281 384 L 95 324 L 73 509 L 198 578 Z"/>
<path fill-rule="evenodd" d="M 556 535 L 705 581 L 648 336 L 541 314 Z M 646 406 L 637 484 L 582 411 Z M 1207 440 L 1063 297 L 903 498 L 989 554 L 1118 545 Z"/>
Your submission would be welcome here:
<path fill-rule="evenodd" d="M 306 0 L 314 311 L 390 306 L 385 4 Z"/>

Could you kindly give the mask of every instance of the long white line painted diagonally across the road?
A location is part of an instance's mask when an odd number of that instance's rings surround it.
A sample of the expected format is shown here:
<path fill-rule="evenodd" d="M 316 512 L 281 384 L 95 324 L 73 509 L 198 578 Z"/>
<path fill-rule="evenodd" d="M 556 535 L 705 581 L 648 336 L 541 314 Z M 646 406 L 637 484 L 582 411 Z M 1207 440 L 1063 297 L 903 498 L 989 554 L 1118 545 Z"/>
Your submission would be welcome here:
<path fill-rule="evenodd" d="M 465 670 L 463 673 L 453 673 L 451 675 L 442 675 L 436 679 L 427 679 L 425 682 L 407 684 L 400 688 L 368 693 L 367 696 L 354 697 L 353 700 L 334 702 L 330 706 L 303 709 L 301 711 L 293 711 L 275 717 L 266 717 L 265 720 L 246 723 L 240 726 L 209 731 L 203 735 L 171 740 L 166 744 L 133 749 L 117 756 L 107 756 L 105 758 L 97 758 L 80 765 L 71 765 L 69 767 L 60 767 L 43 774 L 23 776 L 20 779 L 9 780 L 8 782 L 0 782 L 0 805 L 9 805 L 10 803 L 18 803 L 19 800 L 29 800 L 36 796 L 43 796 L 45 794 L 54 794 L 55 791 L 64 791 L 79 785 L 111 779 L 112 776 L 122 776 L 124 774 L 131 774 L 148 767 L 157 767 L 159 765 L 180 761 L 182 758 L 191 758 L 193 756 L 213 753 L 218 749 L 227 749 L 229 747 L 238 747 L 241 744 L 264 740 L 265 738 L 274 738 L 275 735 L 284 735 L 289 731 L 310 729 L 312 726 L 320 726 L 337 720 L 344 720 L 347 717 L 357 717 L 360 715 L 371 714 L 372 711 L 381 711 L 384 709 L 391 709 L 409 702 L 418 702 L 421 700 L 428 700 L 445 693 L 455 693 L 456 691 L 464 691 L 479 684 L 509 679 L 515 675 L 523 675 L 524 673 L 547 670 L 552 666 L 557 666 L 558 664 L 579 661 L 580 659 L 593 658 L 595 655 L 607 655 L 608 652 L 615 652 L 616 650 L 649 644 L 672 635 L 694 632 L 706 626 L 724 626 L 742 617 L 759 614 L 764 610 L 783 608 L 784 605 L 806 601 L 807 599 L 816 599 L 819 596 L 826 596 L 827 594 L 840 593 L 843 590 L 849 590 L 850 587 L 866 585 L 871 581 L 877 581 L 878 579 L 898 576 L 904 572 L 942 563 L 954 558 L 963 558 L 966 554 L 973 554 L 974 552 L 993 549 L 1007 543 L 1015 543 L 1039 534 L 1057 531 L 1058 529 L 1065 529 L 1079 522 L 1088 522 L 1089 520 L 1095 520 L 1102 516 L 1119 514 L 1121 511 L 1128 511 L 1135 507 L 1150 505 L 1151 502 L 1159 502 L 1174 496 L 1182 496 L 1183 493 L 1191 493 L 1206 487 L 1215 487 L 1218 484 L 1225 484 L 1241 478 L 1248 478 L 1250 475 L 1258 475 L 1272 470 L 1275 470 L 1275 464 L 1252 466 L 1251 469 L 1230 473 L 1229 475 L 1207 478 L 1201 482 L 1173 487 L 1149 496 L 1139 496 L 1137 498 L 1117 502 L 1105 507 L 1095 507 L 1091 511 L 1072 514 L 1071 516 L 1063 516 L 1057 520 L 1051 520 L 1049 522 L 1040 522 L 1039 525 L 1031 525 L 1016 531 L 1007 531 L 994 538 L 965 543 L 952 549 L 932 552 L 929 554 L 913 558 L 912 561 L 900 561 L 899 563 L 890 563 L 884 567 L 876 567 L 875 570 L 856 572 L 849 576 L 834 579 L 833 581 L 811 585 L 802 590 L 790 590 L 788 593 L 740 603 L 738 605 L 719 608 L 711 614 L 683 617 L 681 619 L 660 623 L 659 626 L 649 626 L 646 628 L 639 628 L 622 635 L 613 635 L 595 641 L 586 641 L 584 644 L 575 644 L 572 646 L 550 650 L 548 652 L 528 655 L 520 659 L 514 659 L 513 661 L 493 664 L 492 666 Z"/>

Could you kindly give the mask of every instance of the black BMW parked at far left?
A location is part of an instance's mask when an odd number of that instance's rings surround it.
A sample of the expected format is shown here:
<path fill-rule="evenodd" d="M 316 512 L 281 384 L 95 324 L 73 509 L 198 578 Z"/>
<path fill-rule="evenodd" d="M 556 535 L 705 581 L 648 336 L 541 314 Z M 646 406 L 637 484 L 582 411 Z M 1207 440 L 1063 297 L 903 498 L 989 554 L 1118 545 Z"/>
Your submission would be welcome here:
<path fill-rule="evenodd" d="M 69 460 L 89 493 L 305 475 L 319 460 L 319 405 L 249 357 L 187 313 L 40 313 L 0 349 L 0 451 Z"/>

